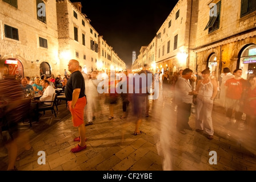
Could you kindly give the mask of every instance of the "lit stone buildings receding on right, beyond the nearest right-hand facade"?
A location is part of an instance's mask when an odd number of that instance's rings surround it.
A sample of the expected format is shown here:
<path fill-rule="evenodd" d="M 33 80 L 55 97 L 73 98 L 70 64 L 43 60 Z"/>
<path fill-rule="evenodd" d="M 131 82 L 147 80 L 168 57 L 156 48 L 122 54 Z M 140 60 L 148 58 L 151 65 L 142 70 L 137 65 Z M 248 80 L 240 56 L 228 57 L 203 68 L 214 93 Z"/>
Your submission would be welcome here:
<path fill-rule="evenodd" d="M 179 69 L 187 67 L 195 69 L 193 48 L 197 34 L 198 2 L 198 0 L 178 1 L 163 22 L 157 35 L 146 49 L 150 52 L 147 53 L 149 56 L 147 63 L 151 63 L 151 70 L 156 68 L 156 72 L 165 70 L 178 72 Z M 141 54 L 145 55 L 145 52 Z M 152 61 L 152 56 L 154 61 Z"/>

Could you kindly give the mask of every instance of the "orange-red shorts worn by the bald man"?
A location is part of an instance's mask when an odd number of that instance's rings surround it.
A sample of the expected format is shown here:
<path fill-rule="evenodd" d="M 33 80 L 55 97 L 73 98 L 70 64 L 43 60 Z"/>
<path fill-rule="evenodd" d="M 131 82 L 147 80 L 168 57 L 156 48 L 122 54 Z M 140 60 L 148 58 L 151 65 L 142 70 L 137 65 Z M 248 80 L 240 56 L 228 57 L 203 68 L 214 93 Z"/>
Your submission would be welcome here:
<path fill-rule="evenodd" d="M 82 125 L 83 122 L 83 109 L 86 106 L 86 98 L 78 98 L 74 109 L 71 107 L 72 101 L 67 101 L 67 106 L 69 107 L 70 113 L 72 115 L 72 122 L 74 127 Z"/>

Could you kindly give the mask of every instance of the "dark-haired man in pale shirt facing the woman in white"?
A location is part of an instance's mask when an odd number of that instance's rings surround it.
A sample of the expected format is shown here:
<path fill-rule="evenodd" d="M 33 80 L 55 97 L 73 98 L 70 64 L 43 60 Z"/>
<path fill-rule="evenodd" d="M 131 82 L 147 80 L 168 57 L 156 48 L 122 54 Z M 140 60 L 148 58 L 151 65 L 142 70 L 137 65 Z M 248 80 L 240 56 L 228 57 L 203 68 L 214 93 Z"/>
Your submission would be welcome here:
<path fill-rule="evenodd" d="M 193 91 L 190 85 L 189 79 L 191 78 L 193 71 L 186 68 L 182 72 L 182 77 L 178 78 L 175 84 L 175 102 L 177 104 L 177 131 L 181 134 L 186 134 L 187 130 L 193 130 L 189 126 L 189 117 L 191 114 L 191 105 L 193 102 L 193 96 L 197 94 Z"/>

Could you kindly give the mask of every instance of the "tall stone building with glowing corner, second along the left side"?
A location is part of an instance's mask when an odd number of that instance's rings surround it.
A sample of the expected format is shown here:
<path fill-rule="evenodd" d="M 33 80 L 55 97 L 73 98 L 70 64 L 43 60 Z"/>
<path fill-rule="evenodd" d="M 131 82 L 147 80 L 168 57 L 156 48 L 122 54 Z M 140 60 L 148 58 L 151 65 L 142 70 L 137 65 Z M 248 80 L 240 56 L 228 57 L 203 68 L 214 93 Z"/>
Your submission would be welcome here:
<path fill-rule="evenodd" d="M 98 32 L 81 12 L 81 3 L 65 0 L 57 1 L 56 6 L 61 71 L 67 68 L 70 59 L 78 60 L 88 71 L 97 68 Z"/>

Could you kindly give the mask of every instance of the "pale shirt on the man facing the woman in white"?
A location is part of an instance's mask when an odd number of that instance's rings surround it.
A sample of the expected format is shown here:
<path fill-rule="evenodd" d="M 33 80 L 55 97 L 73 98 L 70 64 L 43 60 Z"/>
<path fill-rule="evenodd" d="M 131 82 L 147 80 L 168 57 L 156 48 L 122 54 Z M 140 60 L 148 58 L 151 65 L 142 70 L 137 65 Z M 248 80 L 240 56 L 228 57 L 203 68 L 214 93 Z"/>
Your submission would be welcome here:
<path fill-rule="evenodd" d="M 183 77 L 178 77 L 178 81 L 175 84 L 175 96 L 178 104 L 181 102 L 192 104 L 193 96 L 189 95 L 189 92 L 192 91 L 192 86 L 190 85 L 189 80 L 186 80 Z"/>

